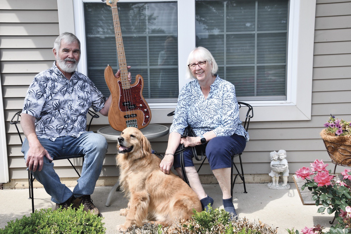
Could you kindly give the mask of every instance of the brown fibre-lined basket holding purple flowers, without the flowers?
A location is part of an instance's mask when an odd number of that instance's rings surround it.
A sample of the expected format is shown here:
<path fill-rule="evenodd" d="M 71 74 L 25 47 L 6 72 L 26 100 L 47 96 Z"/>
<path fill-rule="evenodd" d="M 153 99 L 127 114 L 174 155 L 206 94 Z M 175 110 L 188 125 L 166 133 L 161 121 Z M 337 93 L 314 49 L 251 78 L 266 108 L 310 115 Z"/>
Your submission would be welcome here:
<path fill-rule="evenodd" d="M 351 135 L 335 136 L 323 129 L 320 136 L 333 163 L 351 166 Z"/>

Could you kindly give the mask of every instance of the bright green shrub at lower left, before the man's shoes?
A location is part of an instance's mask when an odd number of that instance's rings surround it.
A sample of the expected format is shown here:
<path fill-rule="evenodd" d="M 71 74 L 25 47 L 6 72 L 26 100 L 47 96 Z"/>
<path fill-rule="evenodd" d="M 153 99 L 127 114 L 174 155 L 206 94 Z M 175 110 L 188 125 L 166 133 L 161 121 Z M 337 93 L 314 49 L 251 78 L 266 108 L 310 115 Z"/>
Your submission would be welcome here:
<path fill-rule="evenodd" d="M 83 207 L 52 210 L 36 210 L 30 216 L 10 221 L 0 234 L 104 234 L 106 228 L 98 217 L 83 210 Z"/>

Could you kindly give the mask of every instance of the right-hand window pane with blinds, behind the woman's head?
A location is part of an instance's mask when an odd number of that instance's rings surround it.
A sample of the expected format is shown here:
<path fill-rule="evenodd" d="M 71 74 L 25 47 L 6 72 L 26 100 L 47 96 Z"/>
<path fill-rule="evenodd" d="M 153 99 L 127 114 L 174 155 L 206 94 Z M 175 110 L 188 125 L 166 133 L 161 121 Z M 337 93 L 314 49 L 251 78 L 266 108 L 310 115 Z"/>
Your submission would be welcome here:
<path fill-rule="evenodd" d="M 286 100 L 288 0 L 196 0 L 196 45 L 241 100 Z"/>

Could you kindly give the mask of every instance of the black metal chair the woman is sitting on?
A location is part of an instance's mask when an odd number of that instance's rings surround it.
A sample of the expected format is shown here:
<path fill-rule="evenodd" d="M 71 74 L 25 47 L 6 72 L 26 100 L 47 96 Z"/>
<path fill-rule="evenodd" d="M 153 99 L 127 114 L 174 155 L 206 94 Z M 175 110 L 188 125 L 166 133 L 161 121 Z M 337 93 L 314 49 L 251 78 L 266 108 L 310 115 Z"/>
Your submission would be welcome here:
<path fill-rule="evenodd" d="M 244 128 L 246 130 L 246 132 L 249 130 L 249 124 L 250 124 L 250 120 L 251 118 L 253 117 L 253 108 L 250 104 L 247 104 L 245 102 L 238 102 L 239 104 L 239 109 L 243 106 L 247 107 L 247 112 L 246 112 L 246 118 L 245 118 L 245 121 L 244 121 Z M 167 116 L 172 116 L 174 115 L 174 111 L 167 114 Z M 230 183 L 231 183 L 231 195 L 233 197 L 233 188 L 234 188 L 234 184 L 235 184 L 235 180 L 237 179 L 237 177 L 239 176 L 240 179 L 243 181 L 243 185 L 244 185 L 244 193 L 247 193 L 246 192 L 246 185 L 245 185 L 245 178 L 244 178 L 244 171 L 243 171 L 243 163 L 241 161 L 241 154 L 243 154 L 243 152 L 239 153 L 239 154 L 235 154 L 235 155 L 232 155 L 232 168 L 231 168 L 231 179 L 230 179 Z M 200 167 L 198 168 L 197 172 L 199 173 L 202 165 L 204 164 L 205 160 L 206 160 L 206 155 L 204 155 L 205 158 L 203 159 L 203 161 L 201 162 L 201 165 Z M 237 156 L 239 156 L 239 161 L 240 161 L 240 169 L 241 169 L 241 172 L 239 172 L 239 169 L 238 167 L 236 166 L 235 162 L 234 162 L 234 158 L 236 158 Z M 236 169 L 237 171 L 237 174 L 235 175 L 234 177 L 234 180 L 233 180 L 233 167 Z"/>

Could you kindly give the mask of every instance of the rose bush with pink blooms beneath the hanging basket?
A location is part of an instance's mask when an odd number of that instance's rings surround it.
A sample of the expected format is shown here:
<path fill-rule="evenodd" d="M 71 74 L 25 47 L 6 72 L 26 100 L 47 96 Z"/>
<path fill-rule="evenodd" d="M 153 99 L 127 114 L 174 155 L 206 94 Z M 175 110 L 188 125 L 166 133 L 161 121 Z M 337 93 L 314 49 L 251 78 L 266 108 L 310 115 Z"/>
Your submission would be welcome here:
<path fill-rule="evenodd" d="M 302 167 L 296 171 L 296 176 L 302 180 L 306 180 L 302 186 L 302 190 L 306 187 L 312 192 L 312 200 L 316 201 L 316 206 L 322 204 L 318 208 L 318 213 L 325 210 L 328 214 L 335 213 L 338 223 L 331 226 L 328 232 L 323 232 L 324 227 L 320 225 L 314 228 L 305 227 L 301 230 L 303 234 L 330 233 L 344 234 L 351 232 L 351 171 L 345 169 L 341 174 L 343 178 L 338 179 L 335 175 L 330 175 L 331 171 L 327 171 L 323 160 L 316 160 L 311 163 L 311 169 Z M 287 230 L 292 233 L 291 230 Z M 295 232 L 298 234 L 298 230 Z"/>

